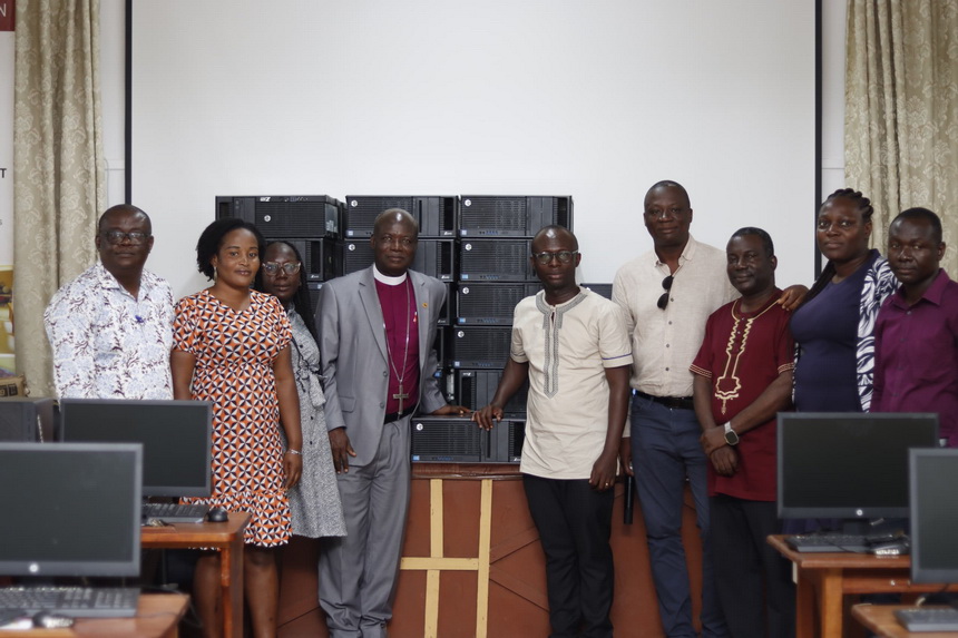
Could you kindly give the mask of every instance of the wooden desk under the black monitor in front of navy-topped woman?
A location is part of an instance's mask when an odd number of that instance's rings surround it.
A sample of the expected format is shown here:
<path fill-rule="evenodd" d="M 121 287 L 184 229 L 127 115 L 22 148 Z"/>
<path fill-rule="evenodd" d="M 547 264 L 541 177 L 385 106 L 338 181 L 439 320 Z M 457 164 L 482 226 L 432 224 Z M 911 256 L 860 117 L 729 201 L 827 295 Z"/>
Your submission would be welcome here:
<path fill-rule="evenodd" d="M 791 560 L 798 572 L 798 638 L 841 636 L 842 597 L 845 593 L 920 593 L 944 588 L 939 583 L 912 583 L 911 557 L 908 556 L 879 558 L 868 553 L 801 553 L 792 550 L 781 536 L 770 536 L 769 544 Z M 817 607 L 818 631 L 814 624 Z"/>

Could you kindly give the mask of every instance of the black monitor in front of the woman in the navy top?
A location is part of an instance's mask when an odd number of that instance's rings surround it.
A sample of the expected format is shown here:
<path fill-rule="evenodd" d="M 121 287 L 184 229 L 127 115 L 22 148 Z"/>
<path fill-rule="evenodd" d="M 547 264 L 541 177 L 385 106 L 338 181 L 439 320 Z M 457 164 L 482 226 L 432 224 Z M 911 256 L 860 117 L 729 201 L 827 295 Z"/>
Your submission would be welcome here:
<path fill-rule="evenodd" d="M 908 450 L 938 445 L 937 414 L 779 414 L 779 517 L 908 517 Z"/>

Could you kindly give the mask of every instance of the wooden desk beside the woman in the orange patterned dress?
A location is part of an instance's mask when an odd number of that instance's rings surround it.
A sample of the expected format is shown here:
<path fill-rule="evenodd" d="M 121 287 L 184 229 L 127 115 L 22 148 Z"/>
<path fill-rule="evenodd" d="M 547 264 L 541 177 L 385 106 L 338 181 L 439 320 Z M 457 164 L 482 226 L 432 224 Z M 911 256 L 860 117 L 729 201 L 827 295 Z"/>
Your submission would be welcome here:
<path fill-rule="evenodd" d="M 176 523 L 143 528 L 144 549 L 211 548 L 219 550 L 219 587 L 223 590 L 223 635 L 243 638 L 243 530 L 247 513 L 229 513 L 225 523 Z"/>

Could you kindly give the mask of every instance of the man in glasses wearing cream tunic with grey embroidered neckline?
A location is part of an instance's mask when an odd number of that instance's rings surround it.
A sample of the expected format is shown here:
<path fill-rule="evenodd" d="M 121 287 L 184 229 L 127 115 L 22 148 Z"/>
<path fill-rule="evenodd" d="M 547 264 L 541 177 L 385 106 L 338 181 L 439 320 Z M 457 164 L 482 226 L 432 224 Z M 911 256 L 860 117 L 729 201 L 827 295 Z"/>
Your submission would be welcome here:
<path fill-rule="evenodd" d="M 610 638 L 612 488 L 628 410 L 628 334 L 615 304 L 576 285 L 575 235 L 546 226 L 531 247 L 542 291 L 516 306 L 502 379 L 475 420 L 491 429 L 529 380 L 519 470 L 546 553 L 551 635 Z"/>

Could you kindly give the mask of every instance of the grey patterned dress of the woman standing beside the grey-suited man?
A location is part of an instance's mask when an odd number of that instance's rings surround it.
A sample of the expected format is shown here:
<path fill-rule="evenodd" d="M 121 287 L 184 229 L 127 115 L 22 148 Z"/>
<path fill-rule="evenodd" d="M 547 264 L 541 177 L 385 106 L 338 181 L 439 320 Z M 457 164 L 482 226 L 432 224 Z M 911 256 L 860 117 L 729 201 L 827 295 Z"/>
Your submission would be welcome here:
<path fill-rule="evenodd" d="M 290 490 L 293 533 L 310 538 L 346 536 L 343 504 L 330 450 L 330 433 L 320 384 L 320 347 L 306 324 L 290 311 L 293 326 L 293 373 L 300 393 L 300 421 L 303 425 L 303 475 Z M 281 432 L 282 434 L 282 432 Z"/>

